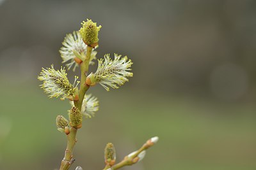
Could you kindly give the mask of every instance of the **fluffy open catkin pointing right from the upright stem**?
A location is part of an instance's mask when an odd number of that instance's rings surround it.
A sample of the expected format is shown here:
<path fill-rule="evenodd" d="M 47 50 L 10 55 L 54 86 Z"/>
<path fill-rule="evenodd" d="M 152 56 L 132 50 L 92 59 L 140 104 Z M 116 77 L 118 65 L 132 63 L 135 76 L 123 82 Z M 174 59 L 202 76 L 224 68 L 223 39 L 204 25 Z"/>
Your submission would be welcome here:
<path fill-rule="evenodd" d="M 109 91 L 109 87 L 118 89 L 118 85 L 124 85 L 125 81 L 129 81 L 128 77 L 132 77 L 131 66 L 132 61 L 127 56 L 121 57 L 115 53 L 115 59 L 112 60 L 109 54 L 104 55 L 104 59 L 99 59 L 99 66 L 95 73 L 95 80 L 100 83 L 104 89 Z"/>

